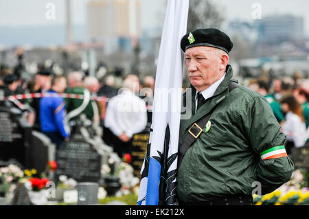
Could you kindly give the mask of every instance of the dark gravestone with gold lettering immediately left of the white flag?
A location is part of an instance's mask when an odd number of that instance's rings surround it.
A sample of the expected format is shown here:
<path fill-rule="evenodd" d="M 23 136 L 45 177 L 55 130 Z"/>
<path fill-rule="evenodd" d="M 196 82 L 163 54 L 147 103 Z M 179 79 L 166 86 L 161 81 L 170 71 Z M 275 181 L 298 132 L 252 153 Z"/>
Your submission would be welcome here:
<path fill-rule="evenodd" d="M 132 162 L 130 163 L 134 170 L 134 175 L 140 177 L 141 166 L 144 163 L 145 154 L 147 151 L 147 145 L 149 141 L 149 132 L 144 131 L 133 135 L 131 157 Z"/>

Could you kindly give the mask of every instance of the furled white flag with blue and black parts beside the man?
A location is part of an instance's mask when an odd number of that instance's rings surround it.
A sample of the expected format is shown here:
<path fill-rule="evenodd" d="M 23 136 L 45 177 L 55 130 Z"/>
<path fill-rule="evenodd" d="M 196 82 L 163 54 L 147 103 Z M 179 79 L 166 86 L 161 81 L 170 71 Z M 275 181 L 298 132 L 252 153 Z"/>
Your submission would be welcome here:
<path fill-rule="evenodd" d="M 168 0 L 159 49 L 150 139 L 137 205 L 176 205 L 183 53 L 189 0 Z"/>

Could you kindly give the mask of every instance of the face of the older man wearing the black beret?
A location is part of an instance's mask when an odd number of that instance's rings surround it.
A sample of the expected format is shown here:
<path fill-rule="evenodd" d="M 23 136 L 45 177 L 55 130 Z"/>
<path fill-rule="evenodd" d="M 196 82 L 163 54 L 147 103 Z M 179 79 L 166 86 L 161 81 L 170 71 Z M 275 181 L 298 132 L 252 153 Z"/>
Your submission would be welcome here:
<path fill-rule="evenodd" d="M 225 73 L 220 51 L 214 47 L 191 47 L 185 51 L 185 65 L 191 84 L 197 91 L 207 89 Z"/>

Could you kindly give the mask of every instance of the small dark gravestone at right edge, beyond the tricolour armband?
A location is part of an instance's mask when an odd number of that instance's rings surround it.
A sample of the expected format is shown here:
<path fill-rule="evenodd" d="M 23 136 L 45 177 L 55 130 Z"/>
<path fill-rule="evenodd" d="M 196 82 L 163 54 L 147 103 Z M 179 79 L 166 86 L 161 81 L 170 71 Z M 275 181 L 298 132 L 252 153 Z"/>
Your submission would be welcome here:
<path fill-rule="evenodd" d="M 309 170 L 309 146 L 293 148 L 291 159 L 295 168 L 306 168 Z"/>

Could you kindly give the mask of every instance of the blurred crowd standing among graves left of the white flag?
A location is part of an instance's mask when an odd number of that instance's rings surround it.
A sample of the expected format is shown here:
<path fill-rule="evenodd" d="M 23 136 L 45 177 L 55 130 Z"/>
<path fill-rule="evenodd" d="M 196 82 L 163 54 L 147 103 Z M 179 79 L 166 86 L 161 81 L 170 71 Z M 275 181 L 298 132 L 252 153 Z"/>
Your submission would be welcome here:
<path fill-rule="evenodd" d="M 52 67 L 38 64 L 36 73 L 25 79 L 21 56 L 14 67 L 0 63 L 0 108 L 22 110 L 27 123 L 49 137 L 57 149 L 72 138 L 74 124 L 85 117 L 88 124 L 102 128 L 102 139 L 119 157 L 131 152 L 133 135 L 150 123 L 155 78 L 127 74 L 117 78 L 116 87 L 113 74 L 98 78 L 80 69 L 59 75 Z M 141 95 L 141 89 L 147 92 Z M 5 99 L 27 93 L 43 95 Z"/>

